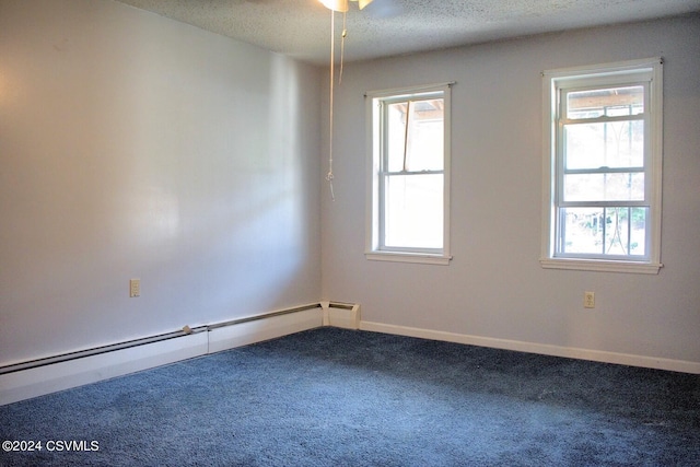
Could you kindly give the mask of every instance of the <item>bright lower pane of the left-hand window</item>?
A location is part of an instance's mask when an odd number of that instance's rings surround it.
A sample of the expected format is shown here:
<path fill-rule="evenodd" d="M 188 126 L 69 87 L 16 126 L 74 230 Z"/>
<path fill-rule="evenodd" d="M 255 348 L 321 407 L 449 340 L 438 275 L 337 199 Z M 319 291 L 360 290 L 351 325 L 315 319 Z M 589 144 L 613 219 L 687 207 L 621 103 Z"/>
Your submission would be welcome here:
<path fill-rule="evenodd" d="M 386 176 L 384 201 L 384 246 L 442 248 L 442 174 Z"/>

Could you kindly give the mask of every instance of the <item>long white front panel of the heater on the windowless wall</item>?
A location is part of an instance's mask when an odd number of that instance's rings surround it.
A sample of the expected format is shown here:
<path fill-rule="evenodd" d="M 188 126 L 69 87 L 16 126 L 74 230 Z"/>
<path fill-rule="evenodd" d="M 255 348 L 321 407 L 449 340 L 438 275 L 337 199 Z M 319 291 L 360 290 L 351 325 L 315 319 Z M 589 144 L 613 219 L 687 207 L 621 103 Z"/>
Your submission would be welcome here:
<path fill-rule="evenodd" d="M 202 326 L 192 334 L 0 374 L 0 406 L 322 326 L 319 304 Z M 116 347 L 118 347 L 117 345 Z M 97 349 L 100 350 L 100 349 Z M 60 358 L 57 357 L 57 359 Z M 50 362 L 51 360 L 48 359 Z M 30 362 L 31 363 L 31 362 Z"/>

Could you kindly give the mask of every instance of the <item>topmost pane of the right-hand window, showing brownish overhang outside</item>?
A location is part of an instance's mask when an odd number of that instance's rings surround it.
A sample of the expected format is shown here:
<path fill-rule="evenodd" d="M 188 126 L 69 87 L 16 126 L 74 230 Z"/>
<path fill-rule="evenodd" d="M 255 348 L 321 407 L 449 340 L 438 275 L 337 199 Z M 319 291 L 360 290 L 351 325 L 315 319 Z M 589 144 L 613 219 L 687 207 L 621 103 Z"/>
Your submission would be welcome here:
<path fill-rule="evenodd" d="M 567 94 L 567 118 L 598 118 L 644 113 L 644 86 L 586 90 Z"/>

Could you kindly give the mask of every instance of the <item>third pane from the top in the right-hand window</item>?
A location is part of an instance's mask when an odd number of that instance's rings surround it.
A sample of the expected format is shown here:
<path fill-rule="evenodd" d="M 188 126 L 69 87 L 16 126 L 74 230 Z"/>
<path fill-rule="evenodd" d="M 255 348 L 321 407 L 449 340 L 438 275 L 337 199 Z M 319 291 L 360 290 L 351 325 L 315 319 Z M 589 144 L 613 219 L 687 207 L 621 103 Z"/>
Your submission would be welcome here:
<path fill-rule="evenodd" d="M 564 201 L 642 201 L 644 173 L 564 175 Z"/>

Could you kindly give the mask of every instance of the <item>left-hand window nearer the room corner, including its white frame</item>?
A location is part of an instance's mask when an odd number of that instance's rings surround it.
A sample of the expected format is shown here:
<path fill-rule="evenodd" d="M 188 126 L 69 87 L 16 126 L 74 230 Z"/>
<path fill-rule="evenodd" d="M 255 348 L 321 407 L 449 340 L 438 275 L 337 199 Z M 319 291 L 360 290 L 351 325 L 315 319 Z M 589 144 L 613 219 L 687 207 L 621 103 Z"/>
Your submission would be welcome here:
<path fill-rule="evenodd" d="M 448 264 L 450 84 L 368 93 L 369 259 Z"/>

